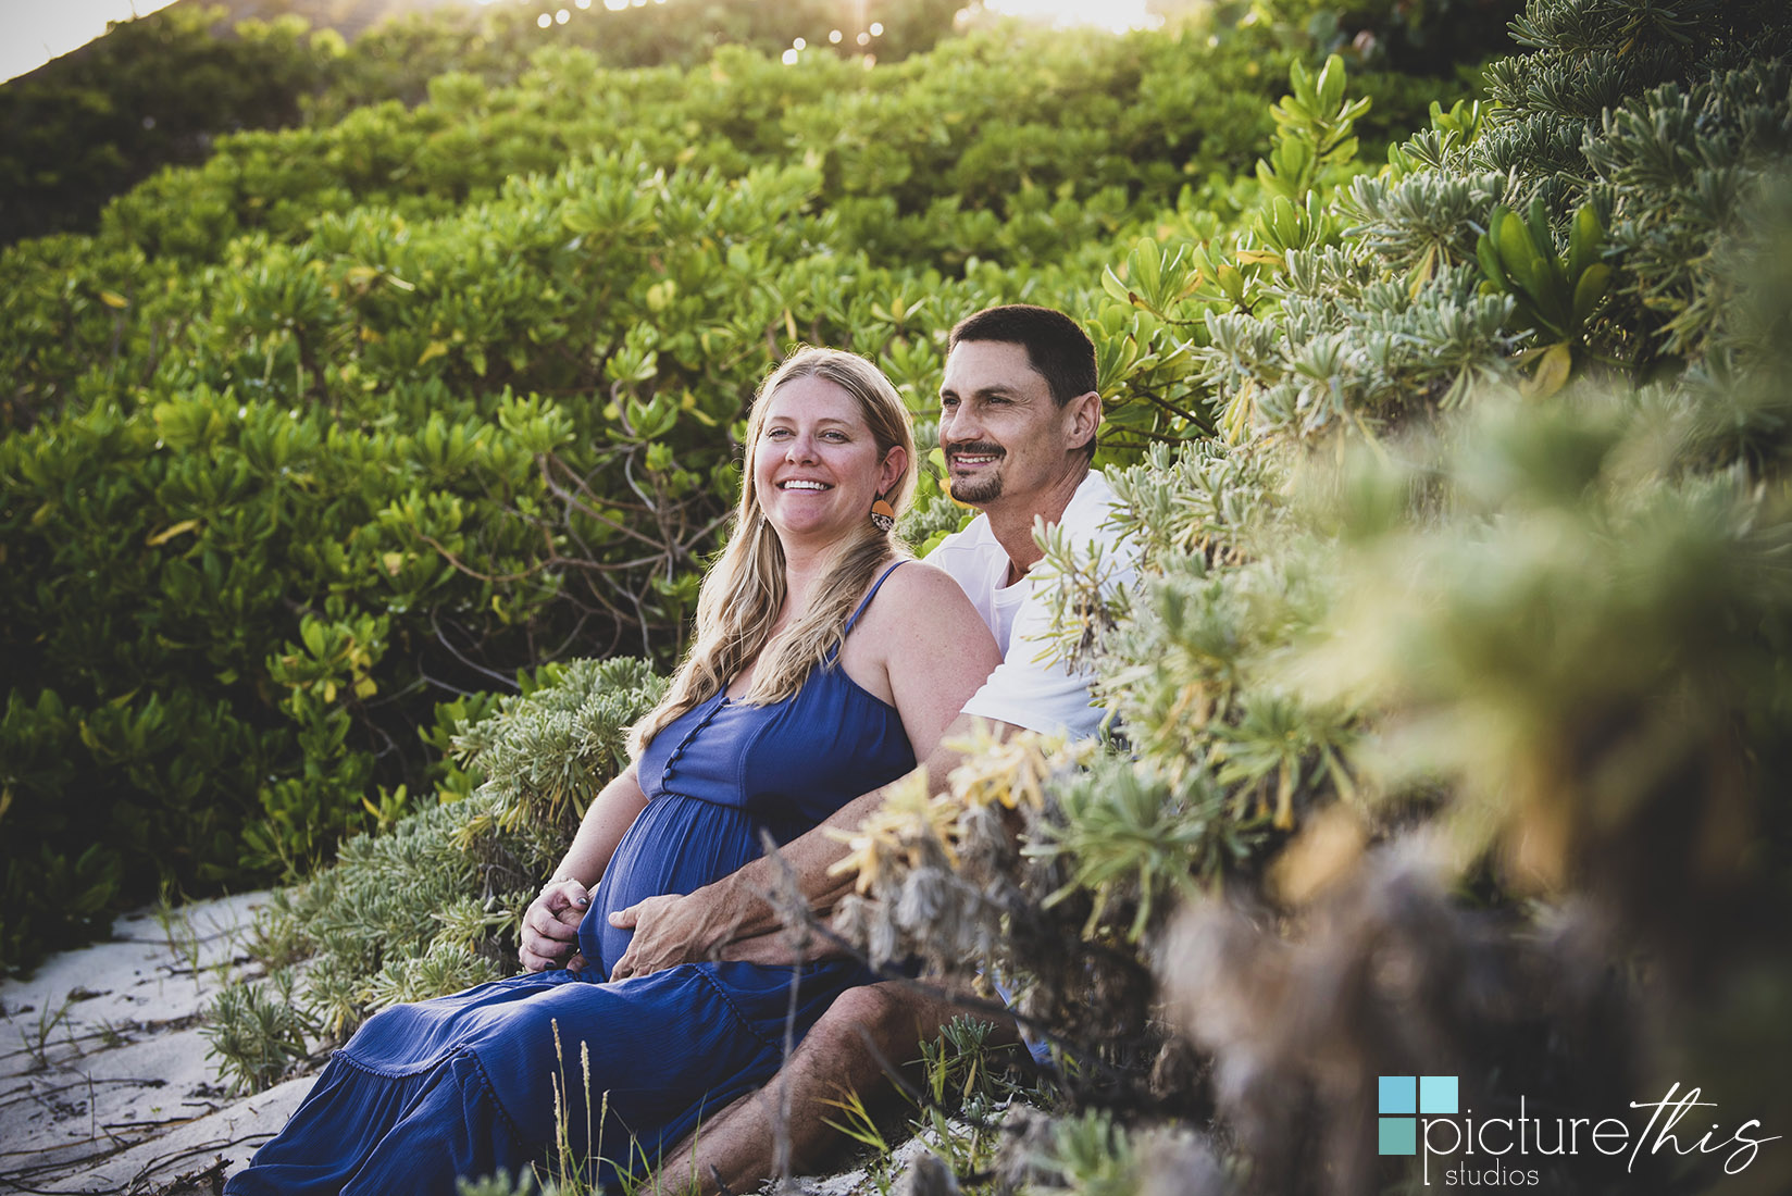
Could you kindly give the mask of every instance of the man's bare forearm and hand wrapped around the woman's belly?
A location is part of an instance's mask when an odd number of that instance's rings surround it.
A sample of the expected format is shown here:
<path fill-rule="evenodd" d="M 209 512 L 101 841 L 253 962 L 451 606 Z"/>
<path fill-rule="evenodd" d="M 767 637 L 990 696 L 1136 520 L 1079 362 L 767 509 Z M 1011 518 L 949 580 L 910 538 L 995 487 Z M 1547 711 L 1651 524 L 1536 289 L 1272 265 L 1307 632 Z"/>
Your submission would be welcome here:
<path fill-rule="evenodd" d="M 1014 728 L 995 724 L 996 733 Z M 971 733 L 971 715 L 961 714 L 939 739 L 939 746 L 921 764 L 928 785 L 941 785 L 946 775 L 964 758 L 946 744 Z M 896 782 L 901 784 L 901 782 Z M 849 875 L 828 875 L 846 855 L 846 845 L 828 834 L 828 828 L 857 830 L 880 805 L 885 789 L 860 794 L 830 814 L 823 823 L 778 848 L 783 866 L 794 873 L 810 907 L 830 909 L 853 886 Z M 740 870 L 706 884 L 685 897 L 649 897 L 647 900 L 609 914 L 616 927 L 634 927 L 634 940 L 611 970 L 611 979 L 647 975 L 679 963 L 710 959 L 745 959 L 756 963 L 788 963 L 790 949 L 780 941 L 783 922 L 765 900 L 781 868 L 771 859 L 754 859 Z"/>

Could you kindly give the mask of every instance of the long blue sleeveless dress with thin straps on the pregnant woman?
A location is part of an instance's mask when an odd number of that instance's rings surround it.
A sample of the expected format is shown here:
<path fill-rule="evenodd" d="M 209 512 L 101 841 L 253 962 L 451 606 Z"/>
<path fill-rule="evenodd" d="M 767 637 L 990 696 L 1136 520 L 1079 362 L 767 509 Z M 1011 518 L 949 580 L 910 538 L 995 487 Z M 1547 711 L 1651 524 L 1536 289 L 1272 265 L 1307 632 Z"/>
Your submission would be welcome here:
<path fill-rule="evenodd" d="M 853 611 L 848 633 L 891 570 Z M 599 1182 L 652 1169 L 704 1117 L 771 1079 L 792 1002 L 801 1040 L 837 995 L 876 977 L 837 959 L 688 963 L 609 983 L 631 931 L 611 927 L 607 914 L 717 880 L 762 854 L 762 828 L 785 843 L 914 764 L 896 710 L 835 658 L 787 701 L 747 705 L 717 694 L 685 712 L 638 760 L 649 803 L 579 927 L 590 966 L 514 975 L 375 1015 L 224 1191 L 448 1196 L 457 1176 L 500 1167 L 516 1176 L 552 1155 L 556 1083 L 568 1094 L 570 1146 L 593 1160 Z M 581 1051 L 590 1058 L 590 1106 Z"/>

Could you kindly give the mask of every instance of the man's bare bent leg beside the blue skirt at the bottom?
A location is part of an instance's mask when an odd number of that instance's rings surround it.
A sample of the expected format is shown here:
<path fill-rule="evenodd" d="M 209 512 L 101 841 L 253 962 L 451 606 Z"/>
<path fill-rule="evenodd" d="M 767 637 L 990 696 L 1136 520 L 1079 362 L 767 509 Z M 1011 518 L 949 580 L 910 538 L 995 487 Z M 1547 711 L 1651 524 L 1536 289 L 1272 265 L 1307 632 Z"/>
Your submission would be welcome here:
<path fill-rule="evenodd" d="M 780 1106 L 788 1101 L 790 1166 L 814 1171 L 846 1139 L 824 1124 L 840 1119 L 826 1101 L 858 1092 L 869 1108 L 889 1094 L 883 1063 L 903 1067 L 921 1056 L 921 1042 L 961 1010 L 903 984 L 849 988 L 808 1031 L 783 1069 L 758 1092 L 740 1097 L 674 1148 L 649 1189 L 654 1196 L 744 1196 L 778 1166 Z M 1012 1024 L 1002 1027 L 1011 1038 Z M 869 1042 L 867 1042 L 869 1038 Z"/>

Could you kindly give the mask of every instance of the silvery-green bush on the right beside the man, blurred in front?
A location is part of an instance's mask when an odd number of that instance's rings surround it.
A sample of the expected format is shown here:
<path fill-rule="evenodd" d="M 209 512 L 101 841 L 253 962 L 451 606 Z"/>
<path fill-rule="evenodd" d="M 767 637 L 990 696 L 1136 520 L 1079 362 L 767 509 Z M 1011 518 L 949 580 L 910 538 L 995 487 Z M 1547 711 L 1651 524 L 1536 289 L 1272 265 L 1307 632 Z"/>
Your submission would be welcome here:
<path fill-rule="evenodd" d="M 1296 70 L 1262 206 L 1109 271 L 1104 355 L 1188 362 L 1213 430 L 1116 475 L 1150 576 L 1106 619 L 1048 550 L 1125 751 L 984 748 L 855 843 L 837 925 L 987 968 L 1068 1060 L 1004 1185 L 1414 1191 L 1374 1110 L 1419 1074 L 1645 1155 L 1512 1183 L 1792 1183 L 1792 20 L 1512 34 L 1351 178 Z M 1633 1112 L 1688 1088 L 1697 1149 Z"/>

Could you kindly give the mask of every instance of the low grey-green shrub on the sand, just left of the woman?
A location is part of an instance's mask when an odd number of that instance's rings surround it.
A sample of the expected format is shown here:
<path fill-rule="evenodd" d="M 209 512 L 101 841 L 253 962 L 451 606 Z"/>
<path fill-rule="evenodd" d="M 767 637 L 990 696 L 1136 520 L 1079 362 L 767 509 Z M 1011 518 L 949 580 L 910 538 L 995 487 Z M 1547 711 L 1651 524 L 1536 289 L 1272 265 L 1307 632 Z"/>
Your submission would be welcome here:
<path fill-rule="evenodd" d="M 459 800 L 342 845 L 335 864 L 281 891 L 253 954 L 292 977 L 274 1018 L 263 984 L 229 984 L 210 1010 L 211 1054 L 238 1087 L 274 1083 L 306 1036 L 342 1042 L 371 1013 L 516 970 L 523 911 L 577 830 L 586 800 L 625 764 L 629 724 L 665 681 L 640 660 L 581 660 L 525 676 L 525 692 L 453 730 L 480 784 Z"/>

